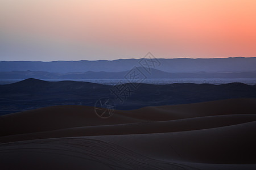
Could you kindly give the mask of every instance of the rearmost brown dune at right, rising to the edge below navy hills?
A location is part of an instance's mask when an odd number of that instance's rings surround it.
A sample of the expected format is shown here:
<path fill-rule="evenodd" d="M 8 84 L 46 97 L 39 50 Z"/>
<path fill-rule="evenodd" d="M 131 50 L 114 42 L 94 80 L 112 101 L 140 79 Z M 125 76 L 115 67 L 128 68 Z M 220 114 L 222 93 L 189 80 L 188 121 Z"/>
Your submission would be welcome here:
<path fill-rule="evenodd" d="M 184 105 L 145 107 L 123 115 L 151 121 L 176 120 L 225 114 L 256 114 L 256 99 L 229 99 Z"/>

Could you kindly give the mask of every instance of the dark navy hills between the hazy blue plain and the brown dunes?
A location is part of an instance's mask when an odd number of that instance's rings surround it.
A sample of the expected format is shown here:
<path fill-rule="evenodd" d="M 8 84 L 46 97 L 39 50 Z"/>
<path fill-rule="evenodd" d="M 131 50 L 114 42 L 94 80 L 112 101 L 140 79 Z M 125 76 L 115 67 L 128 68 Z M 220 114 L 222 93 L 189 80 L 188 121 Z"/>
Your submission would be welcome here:
<path fill-rule="evenodd" d="M 230 84 L 140 84 L 127 83 L 117 86 L 129 87 L 131 93 L 123 98 L 123 103 L 115 100 L 117 109 L 136 109 L 146 106 L 188 104 L 202 101 L 256 97 L 256 86 L 243 83 Z M 1 113 L 12 113 L 48 107 L 51 105 L 94 106 L 101 97 L 115 99 L 111 93 L 114 86 L 88 82 L 47 82 L 26 79 L 21 82 L 0 86 Z M 123 94 L 122 94 L 123 95 Z M 126 94 L 127 95 L 127 94 Z"/>

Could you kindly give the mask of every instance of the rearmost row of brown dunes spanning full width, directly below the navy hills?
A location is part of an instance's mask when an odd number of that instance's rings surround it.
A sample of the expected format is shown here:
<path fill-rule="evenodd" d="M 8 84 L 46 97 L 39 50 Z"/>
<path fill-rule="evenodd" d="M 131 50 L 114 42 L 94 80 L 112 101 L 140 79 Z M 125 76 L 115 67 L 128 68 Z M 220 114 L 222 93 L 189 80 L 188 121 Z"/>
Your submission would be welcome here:
<path fill-rule="evenodd" d="M 115 111 L 114 116 L 107 120 L 98 118 L 93 107 L 75 105 L 47 107 L 0 116 L 3 130 L 1 136 L 82 126 L 167 121 L 226 114 L 254 114 L 255 103 L 256 99 L 230 99 L 196 104 L 145 107 L 133 111 Z"/>

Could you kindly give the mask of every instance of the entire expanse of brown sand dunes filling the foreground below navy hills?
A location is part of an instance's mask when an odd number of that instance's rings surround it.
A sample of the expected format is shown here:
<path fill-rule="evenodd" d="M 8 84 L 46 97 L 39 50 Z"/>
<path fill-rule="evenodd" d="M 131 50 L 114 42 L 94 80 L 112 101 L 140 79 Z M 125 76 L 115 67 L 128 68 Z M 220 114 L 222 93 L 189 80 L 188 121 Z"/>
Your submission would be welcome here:
<path fill-rule="evenodd" d="M 256 99 L 0 117 L 1 169 L 256 169 Z"/>

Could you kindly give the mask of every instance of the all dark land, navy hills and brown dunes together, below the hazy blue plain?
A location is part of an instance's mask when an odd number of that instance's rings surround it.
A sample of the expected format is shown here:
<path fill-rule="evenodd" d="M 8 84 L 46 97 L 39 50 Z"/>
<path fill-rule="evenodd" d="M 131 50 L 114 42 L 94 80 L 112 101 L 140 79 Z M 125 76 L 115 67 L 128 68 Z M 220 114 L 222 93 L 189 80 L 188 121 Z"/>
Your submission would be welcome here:
<path fill-rule="evenodd" d="M 0 85 L 1 168 L 255 169 L 255 84 L 143 81 Z"/>

